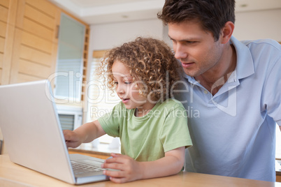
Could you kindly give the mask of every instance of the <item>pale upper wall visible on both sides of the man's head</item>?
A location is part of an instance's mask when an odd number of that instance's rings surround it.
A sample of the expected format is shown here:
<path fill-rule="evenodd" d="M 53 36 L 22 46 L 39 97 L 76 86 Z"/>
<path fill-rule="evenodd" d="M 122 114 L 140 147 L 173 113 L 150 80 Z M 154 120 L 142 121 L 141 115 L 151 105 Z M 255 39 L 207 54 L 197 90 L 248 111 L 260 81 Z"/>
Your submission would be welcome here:
<path fill-rule="evenodd" d="M 272 38 L 281 41 L 280 17 L 281 9 L 236 13 L 236 27 L 233 36 L 238 40 Z M 156 18 L 156 15 L 154 20 L 92 25 L 90 27 L 89 59 L 92 59 L 93 50 L 108 50 L 132 40 L 136 36 L 154 36 L 168 42 L 167 29 Z"/>

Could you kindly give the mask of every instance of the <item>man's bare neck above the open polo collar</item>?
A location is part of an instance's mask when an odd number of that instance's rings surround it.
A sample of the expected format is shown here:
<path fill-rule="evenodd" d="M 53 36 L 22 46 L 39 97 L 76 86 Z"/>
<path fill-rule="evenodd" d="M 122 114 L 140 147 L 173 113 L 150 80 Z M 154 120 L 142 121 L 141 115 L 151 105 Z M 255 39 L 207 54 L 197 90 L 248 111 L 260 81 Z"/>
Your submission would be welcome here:
<path fill-rule="evenodd" d="M 224 58 L 219 67 L 209 70 L 198 77 L 194 77 L 212 96 L 219 91 L 229 76 L 236 68 L 236 50 L 233 45 L 229 45 L 224 53 Z"/>

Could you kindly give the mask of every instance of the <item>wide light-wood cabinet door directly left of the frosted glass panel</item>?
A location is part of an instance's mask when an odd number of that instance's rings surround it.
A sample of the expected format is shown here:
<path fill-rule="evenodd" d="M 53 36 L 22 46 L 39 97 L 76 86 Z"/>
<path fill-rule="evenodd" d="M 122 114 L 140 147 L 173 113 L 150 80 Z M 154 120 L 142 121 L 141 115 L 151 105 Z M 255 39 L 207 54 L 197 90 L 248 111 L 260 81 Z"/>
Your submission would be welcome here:
<path fill-rule="evenodd" d="M 59 14 L 59 8 L 45 0 L 17 2 L 10 84 L 55 73 Z"/>

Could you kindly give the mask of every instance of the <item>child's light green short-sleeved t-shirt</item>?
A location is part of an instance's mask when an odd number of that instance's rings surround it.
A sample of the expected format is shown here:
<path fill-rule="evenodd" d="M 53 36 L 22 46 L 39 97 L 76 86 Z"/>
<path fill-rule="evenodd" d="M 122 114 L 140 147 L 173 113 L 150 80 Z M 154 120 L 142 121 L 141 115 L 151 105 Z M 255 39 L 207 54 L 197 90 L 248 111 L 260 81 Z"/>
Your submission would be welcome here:
<path fill-rule="evenodd" d="M 166 151 L 192 145 L 187 113 L 178 100 L 157 103 L 143 117 L 136 117 L 134 112 L 120 102 L 98 119 L 106 134 L 120 137 L 122 154 L 138 161 L 152 161 L 164 157 Z"/>

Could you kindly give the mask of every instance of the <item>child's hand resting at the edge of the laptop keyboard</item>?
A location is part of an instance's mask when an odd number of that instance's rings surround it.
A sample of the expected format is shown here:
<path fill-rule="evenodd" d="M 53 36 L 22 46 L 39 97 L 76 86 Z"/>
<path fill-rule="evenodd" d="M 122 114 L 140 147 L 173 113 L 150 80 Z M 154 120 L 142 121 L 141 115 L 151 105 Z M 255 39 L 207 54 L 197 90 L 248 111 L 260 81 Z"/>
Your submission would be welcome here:
<path fill-rule="evenodd" d="M 115 183 L 124 183 L 128 181 L 135 181 L 142 179 L 142 168 L 141 164 L 129 156 L 122 154 L 111 154 L 113 158 L 105 160 L 104 164 L 101 165 L 103 168 L 119 170 L 104 170 L 103 174 L 110 177 L 110 180 Z"/>

